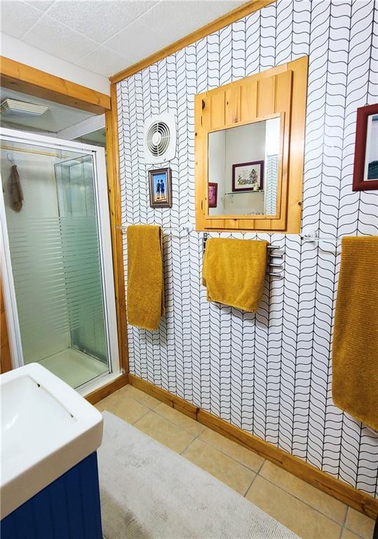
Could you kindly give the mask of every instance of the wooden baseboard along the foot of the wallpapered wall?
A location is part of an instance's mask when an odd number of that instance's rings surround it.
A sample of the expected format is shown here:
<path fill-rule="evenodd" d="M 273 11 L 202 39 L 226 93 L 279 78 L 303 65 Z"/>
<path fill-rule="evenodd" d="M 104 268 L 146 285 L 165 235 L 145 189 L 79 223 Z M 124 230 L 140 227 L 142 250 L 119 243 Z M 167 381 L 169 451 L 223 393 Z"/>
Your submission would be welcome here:
<path fill-rule="evenodd" d="M 236 444 L 240 444 L 245 448 L 255 451 L 255 453 L 266 458 L 266 460 L 270 460 L 272 463 L 283 468 L 283 470 L 287 470 L 307 483 L 316 486 L 320 491 L 330 494 L 333 498 L 367 514 L 368 517 L 372 519 L 377 517 L 378 500 L 372 498 L 372 496 L 358 491 L 356 488 L 339 481 L 339 479 L 336 479 L 325 472 L 321 472 L 316 467 L 305 463 L 304 460 L 282 451 L 278 447 L 253 436 L 249 432 L 245 432 L 234 425 L 230 425 L 229 422 L 217 418 L 211 413 L 205 412 L 201 408 L 198 408 L 198 406 L 184 401 L 184 399 L 176 397 L 156 385 L 146 382 L 133 374 L 129 374 L 128 378 L 131 385 L 137 387 L 137 389 L 144 393 L 147 393 L 159 401 L 168 404 L 168 406 L 172 406 L 176 410 L 189 415 L 190 418 L 219 432 L 222 436 L 235 441 Z"/>

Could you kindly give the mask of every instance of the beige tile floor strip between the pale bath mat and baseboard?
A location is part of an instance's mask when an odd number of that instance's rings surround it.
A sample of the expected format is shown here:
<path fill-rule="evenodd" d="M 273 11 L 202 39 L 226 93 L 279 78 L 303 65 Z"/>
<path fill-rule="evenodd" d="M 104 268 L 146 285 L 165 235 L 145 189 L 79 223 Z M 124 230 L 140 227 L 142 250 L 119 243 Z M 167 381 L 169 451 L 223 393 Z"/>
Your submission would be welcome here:
<path fill-rule="evenodd" d="M 372 539 L 372 519 L 131 385 L 96 406 L 191 460 L 303 539 Z"/>

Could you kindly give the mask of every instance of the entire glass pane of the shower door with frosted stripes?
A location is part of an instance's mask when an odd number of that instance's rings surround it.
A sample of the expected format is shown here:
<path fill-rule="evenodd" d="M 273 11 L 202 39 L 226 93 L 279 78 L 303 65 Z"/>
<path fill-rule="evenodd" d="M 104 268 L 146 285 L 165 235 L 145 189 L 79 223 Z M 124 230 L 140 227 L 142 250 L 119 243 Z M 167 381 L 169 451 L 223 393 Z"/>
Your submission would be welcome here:
<path fill-rule="evenodd" d="M 77 387 L 109 371 L 93 158 L 7 144 L 23 198 L 15 211 L 14 175 L 1 150 L 24 362 L 41 361 Z"/>

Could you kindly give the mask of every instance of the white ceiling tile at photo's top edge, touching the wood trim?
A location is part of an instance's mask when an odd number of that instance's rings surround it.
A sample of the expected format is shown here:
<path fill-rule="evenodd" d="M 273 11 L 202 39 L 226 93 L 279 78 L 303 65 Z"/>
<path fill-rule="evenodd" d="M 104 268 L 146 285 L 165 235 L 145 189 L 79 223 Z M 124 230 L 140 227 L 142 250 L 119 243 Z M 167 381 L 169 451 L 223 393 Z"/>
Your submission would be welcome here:
<path fill-rule="evenodd" d="M 168 36 L 168 43 L 194 32 L 232 11 L 245 1 L 175 1 L 162 0 L 139 18 L 143 25 Z"/>

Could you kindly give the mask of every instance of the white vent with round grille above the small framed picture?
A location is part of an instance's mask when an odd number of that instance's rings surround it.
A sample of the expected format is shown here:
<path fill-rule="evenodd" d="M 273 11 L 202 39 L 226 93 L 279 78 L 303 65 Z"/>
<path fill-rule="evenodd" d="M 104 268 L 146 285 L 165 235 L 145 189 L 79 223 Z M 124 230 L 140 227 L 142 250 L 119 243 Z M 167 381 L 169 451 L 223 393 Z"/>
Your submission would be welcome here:
<path fill-rule="evenodd" d="M 144 158 L 146 163 L 170 161 L 176 152 L 175 114 L 164 112 L 144 122 Z"/>

